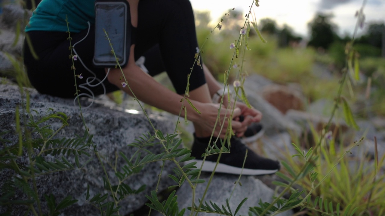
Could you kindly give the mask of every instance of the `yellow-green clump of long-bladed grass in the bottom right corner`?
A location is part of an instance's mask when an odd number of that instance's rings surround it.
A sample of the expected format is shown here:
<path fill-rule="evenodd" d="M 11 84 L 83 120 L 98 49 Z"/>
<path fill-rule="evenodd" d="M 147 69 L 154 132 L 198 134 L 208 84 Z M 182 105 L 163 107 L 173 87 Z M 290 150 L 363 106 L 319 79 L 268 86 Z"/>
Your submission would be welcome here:
<path fill-rule="evenodd" d="M 344 139 L 340 138 L 340 143 L 336 142 L 336 139 L 331 135 L 331 131 L 326 138 L 321 138 L 312 127 L 311 134 L 315 143 L 319 143 L 322 140 L 319 147 L 320 156 L 315 161 L 318 166 L 314 168 L 312 173 L 301 179 L 298 185 L 301 188 L 312 191 L 311 197 L 322 199 L 326 205 L 329 205 L 328 202 L 334 206 L 338 204 L 338 209 L 341 211 L 350 208 L 349 206 L 354 206 L 357 208 L 355 215 L 367 215 L 369 213 L 381 215 L 385 211 L 385 204 L 378 201 L 377 198 L 385 193 L 383 181 L 385 175 L 379 172 L 379 168 L 384 164 L 385 156 L 378 158 L 378 155 L 376 155 L 376 160 L 374 161 L 365 157 L 366 152 L 360 152 L 360 155 L 355 155 L 354 157 L 343 156 L 346 153 L 350 153 L 350 149 L 359 145 L 360 141 L 355 141 L 350 146 L 344 146 L 344 141 L 342 141 Z M 295 148 L 297 151 L 301 151 L 296 145 Z M 349 150 L 345 151 L 345 149 Z M 302 156 L 305 153 L 300 152 L 298 155 Z M 302 161 L 290 155 L 286 156 L 286 161 L 295 173 L 301 169 L 308 158 L 304 157 L 304 159 Z M 325 178 L 330 170 L 332 170 L 330 177 Z M 321 181 L 322 179 L 325 180 Z M 318 188 L 315 189 L 315 186 L 318 184 Z M 309 205 L 311 208 L 306 207 L 308 208 L 309 215 L 322 213 L 323 206 L 321 204 Z"/>

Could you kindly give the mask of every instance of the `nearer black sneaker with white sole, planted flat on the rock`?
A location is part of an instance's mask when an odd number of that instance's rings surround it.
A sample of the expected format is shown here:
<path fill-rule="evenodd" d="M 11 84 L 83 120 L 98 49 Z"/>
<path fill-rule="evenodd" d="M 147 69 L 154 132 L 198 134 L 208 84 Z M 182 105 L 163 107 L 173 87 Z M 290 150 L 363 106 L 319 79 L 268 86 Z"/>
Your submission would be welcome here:
<path fill-rule="evenodd" d="M 208 146 L 208 141 L 204 143 L 202 142 L 203 140 L 208 140 L 208 138 L 196 138 L 194 134 L 191 156 L 195 157 L 192 161 L 197 162 L 196 167 L 198 168 L 201 167 L 203 162 L 202 154 L 206 152 Z M 280 163 L 278 161 L 258 156 L 253 150 L 249 149 L 241 139 L 233 137 L 230 142 L 230 153 L 222 153 L 219 164 L 215 170 L 216 172 L 228 174 L 241 174 L 242 172 L 243 175 L 266 175 L 276 173 L 280 169 Z M 219 141 L 218 143 L 217 146 L 220 148 L 221 144 Z M 227 143 L 226 148 L 228 148 Z M 248 149 L 248 155 L 244 163 L 244 168 L 242 169 L 246 149 Z M 212 172 L 218 156 L 219 154 L 207 156 L 202 171 Z"/>

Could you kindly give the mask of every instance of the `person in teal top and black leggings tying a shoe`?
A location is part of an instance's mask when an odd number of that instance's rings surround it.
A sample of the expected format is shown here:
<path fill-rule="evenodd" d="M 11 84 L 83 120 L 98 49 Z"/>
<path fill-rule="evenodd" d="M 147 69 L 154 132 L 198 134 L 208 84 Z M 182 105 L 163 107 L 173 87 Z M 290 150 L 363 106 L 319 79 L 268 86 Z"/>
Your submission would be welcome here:
<path fill-rule="evenodd" d="M 184 95 L 187 86 L 187 74 L 191 71 L 198 49 L 191 4 L 188 0 L 127 1 L 130 6 L 131 23 L 136 28 L 136 34 L 131 35 L 135 43 L 131 45 L 128 64 L 123 68 L 127 84 L 144 103 L 179 115 L 181 95 Z M 122 73 L 119 68 L 97 68 L 92 64 L 95 43 L 94 4 L 95 0 L 42 0 L 33 12 L 25 28 L 27 37 L 24 43 L 24 63 L 30 82 L 40 93 L 63 98 L 74 97 L 75 81 L 71 68 L 72 59 L 69 58 L 70 40 L 67 39 L 69 28 L 71 43 L 78 58 L 78 61 L 74 61 L 76 73 L 84 77 L 77 79 L 78 85 L 84 84 L 88 77 L 96 76 L 99 80 L 104 80 L 107 92 L 121 89 L 131 95 L 129 89 L 122 86 Z M 90 27 L 87 22 L 90 23 Z M 30 43 L 27 43 L 27 39 Z M 158 83 L 135 63 L 154 46 L 159 46 L 162 63 L 176 93 Z M 30 47 L 38 59 L 33 57 Z M 107 79 L 104 79 L 106 71 L 109 72 Z M 102 85 L 88 87 L 94 95 L 104 93 Z M 212 97 L 219 90 L 221 86 L 206 67 L 203 69 L 199 66 L 193 67 L 189 78 L 188 98 L 201 114 L 189 105 L 186 105 L 186 109 L 187 119 L 193 122 L 195 128 L 191 156 L 196 158 L 198 167 L 202 163 L 201 156 L 208 147 L 211 132 L 214 130 L 214 136 L 220 138 L 224 138 L 226 134 L 226 130 L 221 130 L 219 124 L 214 128 L 219 103 L 213 103 Z M 221 120 L 229 118 L 231 113 L 231 110 L 226 110 L 227 96 L 224 101 L 220 112 Z M 184 112 L 181 115 L 184 116 Z M 242 122 L 236 121 L 239 120 L 239 116 L 245 116 Z M 237 137 L 243 136 L 248 125 L 258 122 L 261 117 L 258 110 L 236 102 L 232 116 L 232 130 Z M 227 126 L 226 121 L 223 128 Z M 237 137 L 231 138 L 229 143 L 231 153 L 222 154 L 217 172 L 233 174 L 241 172 L 248 148 Z M 217 158 L 218 155 L 208 156 L 203 171 L 213 171 Z M 278 161 L 263 158 L 248 150 L 243 174 L 272 174 L 279 168 Z"/>

